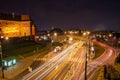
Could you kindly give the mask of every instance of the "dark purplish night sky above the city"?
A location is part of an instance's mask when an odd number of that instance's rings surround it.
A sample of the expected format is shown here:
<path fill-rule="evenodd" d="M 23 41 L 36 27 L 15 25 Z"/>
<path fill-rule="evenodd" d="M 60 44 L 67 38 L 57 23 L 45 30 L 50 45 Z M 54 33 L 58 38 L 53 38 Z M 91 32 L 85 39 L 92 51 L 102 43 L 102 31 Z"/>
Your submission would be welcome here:
<path fill-rule="evenodd" d="M 2 0 L 0 13 L 12 12 L 30 15 L 39 30 L 120 31 L 119 0 Z"/>

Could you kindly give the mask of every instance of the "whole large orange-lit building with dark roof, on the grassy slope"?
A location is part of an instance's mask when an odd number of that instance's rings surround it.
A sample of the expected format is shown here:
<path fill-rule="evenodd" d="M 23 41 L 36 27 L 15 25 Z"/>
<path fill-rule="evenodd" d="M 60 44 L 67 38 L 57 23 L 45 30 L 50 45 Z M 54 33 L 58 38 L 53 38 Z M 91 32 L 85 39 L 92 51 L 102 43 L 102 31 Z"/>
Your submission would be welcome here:
<path fill-rule="evenodd" d="M 3 37 L 35 36 L 35 26 L 29 15 L 15 15 L 0 13 L 0 30 Z"/>

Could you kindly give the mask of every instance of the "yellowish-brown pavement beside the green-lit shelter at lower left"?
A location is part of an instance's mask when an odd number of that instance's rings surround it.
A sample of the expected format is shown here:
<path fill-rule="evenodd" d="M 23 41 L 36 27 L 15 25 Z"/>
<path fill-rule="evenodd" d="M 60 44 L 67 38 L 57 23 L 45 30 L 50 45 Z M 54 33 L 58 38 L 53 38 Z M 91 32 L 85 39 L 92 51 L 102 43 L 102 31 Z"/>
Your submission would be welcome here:
<path fill-rule="evenodd" d="M 33 62 L 33 59 L 34 59 L 34 57 L 32 57 L 32 56 L 24 58 L 24 59 L 18 61 L 15 66 L 9 67 L 9 68 L 7 68 L 7 70 L 4 70 L 5 79 L 1 78 L 2 76 L 1 76 L 1 72 L 0 72 L 0 80 L 13 79 L 18 74 L 23 72 L 26 68 L 28 68 L 28 66 L 30 66 L 31 63 Z M 1 71 L 1 69 L 0 69 L 0 71 Z"/>

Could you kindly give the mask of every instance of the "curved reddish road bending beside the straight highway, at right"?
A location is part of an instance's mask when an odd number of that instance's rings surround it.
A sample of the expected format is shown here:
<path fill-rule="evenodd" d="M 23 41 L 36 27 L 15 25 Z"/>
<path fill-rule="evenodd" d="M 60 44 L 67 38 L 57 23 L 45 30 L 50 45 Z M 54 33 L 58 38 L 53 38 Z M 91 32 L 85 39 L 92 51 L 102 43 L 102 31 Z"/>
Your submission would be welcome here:
<path fill-rule="evenodd" d="M 93 60 L 90 63 L 88 63 L 87 65 L 87 75 L 89 75 L 89 77 L 87 76 L 88 80 L 94 79 L 93 76 L 96 75 L 94 71 L 96 71 L 100 66 L 104 64 L 113 64 L 116 57 L 115 50 L 113 48 L 100 42 L 97 43 L 105 48 L 105 52 L 96 60 Z M 79 80 L 84 80 L 84 72 L 82 72 L 82 74 L 79 76 Z"/>

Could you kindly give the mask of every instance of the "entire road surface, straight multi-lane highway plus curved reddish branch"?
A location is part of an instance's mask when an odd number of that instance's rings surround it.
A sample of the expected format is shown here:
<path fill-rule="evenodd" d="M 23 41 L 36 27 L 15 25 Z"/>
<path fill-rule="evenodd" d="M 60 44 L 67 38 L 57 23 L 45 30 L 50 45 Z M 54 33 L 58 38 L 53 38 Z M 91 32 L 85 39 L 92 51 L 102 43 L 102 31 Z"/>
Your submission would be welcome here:
<path fill-rule="evenodd" d="M 87 77 L 94 78 L 95 71 L 103 64 L 112 64 L 115 59 L 114 49 L 97 42 L 105 52 L 87 65 Z M 84 80 L 86 47 L 83 41 L 76 42 L 58 55 L 39 66 L 22 80 Z M 91 75 L 90 75 L 91 74 Z"/>

